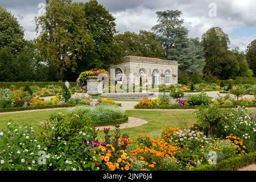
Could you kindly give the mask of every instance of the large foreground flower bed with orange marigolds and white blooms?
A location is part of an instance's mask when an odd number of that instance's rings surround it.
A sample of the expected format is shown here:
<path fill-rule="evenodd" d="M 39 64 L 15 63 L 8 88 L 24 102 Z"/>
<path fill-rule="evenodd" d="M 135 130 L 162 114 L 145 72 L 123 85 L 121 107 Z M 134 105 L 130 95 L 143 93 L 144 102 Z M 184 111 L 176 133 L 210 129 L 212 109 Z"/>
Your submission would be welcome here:
<path fill-rule="evenodd" d="M 242 107 L 200 109 L 189 129 L 165 127 L 160 137 L 133 138 L 122 135 L 118 126 L 113 135 L 104 129 L 98 137 L 92 118 L 102 118 L 102 108 L 56 113 L 39 133 L 8 121 L 0 133 L 0 170 L 234 170 L 255 162 L 255 115 Z M 118 107 L 112 116 L 105 109 L 107 121 L 120 115 Z M 42 151 L 44 164 L 39 163 Z"/>

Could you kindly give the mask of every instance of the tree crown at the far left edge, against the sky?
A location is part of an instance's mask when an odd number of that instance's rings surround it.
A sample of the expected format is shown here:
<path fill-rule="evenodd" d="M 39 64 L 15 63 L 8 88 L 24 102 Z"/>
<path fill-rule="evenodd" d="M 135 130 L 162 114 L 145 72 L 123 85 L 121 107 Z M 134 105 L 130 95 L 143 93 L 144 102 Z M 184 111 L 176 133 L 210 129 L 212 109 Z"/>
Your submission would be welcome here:
<path fill-rule="evenodd" d="M 23 48 L 24 31 L 14 15 L 0 6 L 0 48 L 9 47 L 14 53 Z"/>

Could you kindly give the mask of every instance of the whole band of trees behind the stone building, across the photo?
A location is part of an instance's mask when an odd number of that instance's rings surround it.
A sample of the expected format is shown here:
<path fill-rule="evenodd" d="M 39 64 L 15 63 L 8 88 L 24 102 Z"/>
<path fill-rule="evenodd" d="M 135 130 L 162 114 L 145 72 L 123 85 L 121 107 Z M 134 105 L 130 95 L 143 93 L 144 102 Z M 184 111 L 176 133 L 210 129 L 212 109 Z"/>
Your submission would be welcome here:
<path fill-rule="evenodd" d="M 246 51 L 230 49 L 220 27 L 189 38 L 179 10 L 157 11 L 150 31 L 119 34 L 115 18 L 96 0 L 47 0 L 46 13 L 35 18 L 38 37 L 24 30 L 0 7 L 0 81 L 75 81 L 82 71 L 108 69 L 122 56 L 177 60 L 179 81 L 256 76 L 256 40 Z"/>

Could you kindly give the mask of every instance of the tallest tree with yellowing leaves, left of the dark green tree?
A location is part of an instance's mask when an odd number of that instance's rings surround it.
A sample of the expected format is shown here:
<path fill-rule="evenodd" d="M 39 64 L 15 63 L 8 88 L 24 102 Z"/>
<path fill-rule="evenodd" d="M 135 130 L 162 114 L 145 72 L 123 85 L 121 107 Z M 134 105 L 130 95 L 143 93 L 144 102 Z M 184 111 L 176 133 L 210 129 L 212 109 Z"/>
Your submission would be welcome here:
<path fill-rule="evenodd" d="M 51 60 L 56 76 L 63 80 L 64 71 L 76 71 L 77 62 L 94 49 L 92 36 L 85 28 L 83 3 L 71 0 L 48 0 L 46 14 L 36 18 L 36 40 L 40 53 Z"/>

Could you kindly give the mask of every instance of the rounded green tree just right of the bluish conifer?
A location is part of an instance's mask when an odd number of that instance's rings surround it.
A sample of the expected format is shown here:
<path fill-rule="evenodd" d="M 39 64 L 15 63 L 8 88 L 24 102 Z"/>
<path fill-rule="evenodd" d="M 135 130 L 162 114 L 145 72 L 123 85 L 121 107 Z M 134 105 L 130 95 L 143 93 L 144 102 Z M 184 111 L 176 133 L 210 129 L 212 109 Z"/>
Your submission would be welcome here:
<path fill-rule="evenodd" d="M 230 44 L 228 35 L 220 27 L 210 28 L 202 36 L 206 64 L 204 73 L 221 79 L 236 76 L 239 63 L 232 51 L 228 50 Z"/>

